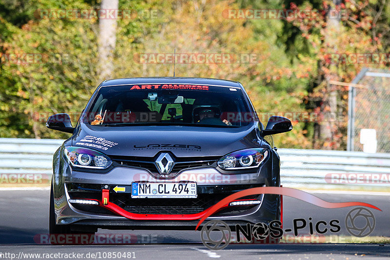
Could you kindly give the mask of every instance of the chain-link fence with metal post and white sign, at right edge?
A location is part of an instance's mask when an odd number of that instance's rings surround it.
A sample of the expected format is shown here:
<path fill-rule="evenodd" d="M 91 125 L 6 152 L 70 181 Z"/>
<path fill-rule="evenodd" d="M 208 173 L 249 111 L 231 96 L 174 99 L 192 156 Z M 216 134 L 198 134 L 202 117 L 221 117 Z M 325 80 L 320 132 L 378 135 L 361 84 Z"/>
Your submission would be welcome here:
<path fill-rule="evenodd" d="M 349 89 L 348 151 L 390 152 L 390 71 L 364 68 Z"/>

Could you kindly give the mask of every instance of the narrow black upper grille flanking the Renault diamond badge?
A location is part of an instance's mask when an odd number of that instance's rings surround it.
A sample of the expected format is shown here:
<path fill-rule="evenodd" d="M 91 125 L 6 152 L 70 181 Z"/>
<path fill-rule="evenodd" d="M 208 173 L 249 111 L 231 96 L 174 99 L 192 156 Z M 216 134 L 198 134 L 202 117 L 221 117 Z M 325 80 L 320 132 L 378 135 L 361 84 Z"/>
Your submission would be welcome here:
<path fill-rule="evenodd" d="M 116 163 L 116 166 L 127 166 L 147 170 L 154 177 L 159 178 L 160 173 L 155 164 L 153 157 L 127 157 L 127 156 L 110 156 Z M 202 168 L 202 167 L 216 167 L 216 162 L 220 157 L 182 157 L 176 158 L 174 166 L 169 174 L 170 178 L 175 178 L 180 172 L 184 170 Z M 165 165 L 165 164 L 164 164 Z"/>

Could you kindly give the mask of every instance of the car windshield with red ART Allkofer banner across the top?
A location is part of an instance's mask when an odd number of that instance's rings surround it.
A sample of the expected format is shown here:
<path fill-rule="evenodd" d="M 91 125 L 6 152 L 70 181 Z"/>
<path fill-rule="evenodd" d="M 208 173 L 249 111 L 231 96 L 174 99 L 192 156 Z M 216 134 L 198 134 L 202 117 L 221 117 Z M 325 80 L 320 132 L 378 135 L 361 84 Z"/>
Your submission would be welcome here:
<path fill-rule="evenodd" d="M 91 125 L 239 127 L 255 118 L 240 88 L 193 84 L 101 87 L 83 113 Z"/>

